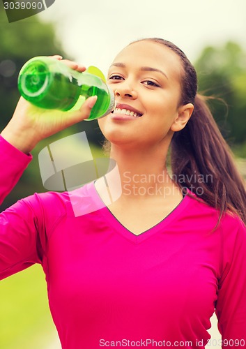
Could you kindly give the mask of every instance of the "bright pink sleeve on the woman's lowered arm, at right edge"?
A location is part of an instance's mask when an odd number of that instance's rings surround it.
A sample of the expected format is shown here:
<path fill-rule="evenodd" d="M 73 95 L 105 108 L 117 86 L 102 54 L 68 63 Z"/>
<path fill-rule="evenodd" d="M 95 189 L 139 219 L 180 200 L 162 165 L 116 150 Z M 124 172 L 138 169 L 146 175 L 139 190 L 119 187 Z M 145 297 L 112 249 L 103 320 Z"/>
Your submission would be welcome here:
<path fill-rule="evenodd" d="M 222 231 L 222 275 L 215 312 L 222 348 L 246 348 L 246 228 L 231 219 Z"/>

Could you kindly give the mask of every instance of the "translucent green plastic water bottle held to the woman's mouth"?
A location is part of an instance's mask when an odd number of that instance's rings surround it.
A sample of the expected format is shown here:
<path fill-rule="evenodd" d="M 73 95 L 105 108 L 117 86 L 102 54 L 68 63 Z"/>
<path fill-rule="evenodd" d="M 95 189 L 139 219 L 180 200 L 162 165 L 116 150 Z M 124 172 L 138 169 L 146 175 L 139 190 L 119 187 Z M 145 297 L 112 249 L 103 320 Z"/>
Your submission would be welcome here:
<path fill-rule="evenodd" d="M 102 72 L 95 67 L 79 73 L 58 59 L 34 57 L 20 70 L 18 89 L 37 107 L 63 111 L 79 110 L 86 98 L 96 95 L 98 99 L 86 119 L 93 120 L 105 117 L 115 106 L 114 93 L 100 76 Z"/>

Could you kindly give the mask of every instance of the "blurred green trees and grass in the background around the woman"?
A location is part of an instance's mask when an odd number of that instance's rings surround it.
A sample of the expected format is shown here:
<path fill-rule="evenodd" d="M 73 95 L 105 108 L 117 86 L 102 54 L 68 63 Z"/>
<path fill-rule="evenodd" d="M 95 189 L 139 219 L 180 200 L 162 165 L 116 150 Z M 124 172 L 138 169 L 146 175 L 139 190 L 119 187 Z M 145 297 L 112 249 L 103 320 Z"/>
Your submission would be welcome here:
<path fill-rule="evenodd" d="M 61 54 L 72 59 L 57 40 L 52 24 L 40 22 L 38 16 L 8 25 L 8 31 L 5 30 L 7 23 L 6 14 L 0 11 L 1 130 L 8 123 L 19 98 L 17 75 L 22 65 L 38 55 Z M 246 53 L 233 42 L 205 47 L 194 65 L 199 75 L 199 91 L 214 96 L 209 103 L 215 120 L 245 175 Z M 86 131 L 93 155 L 101 156 L 102 135 L 97 121 L 77 124 L 44 140 L 33 150 L 31 165 L 3 202 L 1 210 L 35 191 L 45 191 L 38 168 L 39 151 L 54 140 L 81 131 Z M 1 349 L 53 348 L 48 343 L 52 342 L 56 330 L 49 315 L 45 277 L 40 266 L 1 281 L 0 308 Z"/>

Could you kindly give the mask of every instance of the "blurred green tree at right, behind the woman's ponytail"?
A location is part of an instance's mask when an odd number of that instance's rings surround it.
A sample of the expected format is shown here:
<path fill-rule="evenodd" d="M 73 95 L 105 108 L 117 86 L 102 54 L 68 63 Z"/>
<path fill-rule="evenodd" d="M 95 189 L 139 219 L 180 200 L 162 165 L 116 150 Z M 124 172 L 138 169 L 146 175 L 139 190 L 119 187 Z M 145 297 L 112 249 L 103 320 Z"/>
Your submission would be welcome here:
<path fill-rule="evenodd" d="M 199 91 L 214 96 L 209 101 L 215 120 L 231 146 L 246 141 L 246 52 L 227 42 L 203 49 L 194 66 Z"/>

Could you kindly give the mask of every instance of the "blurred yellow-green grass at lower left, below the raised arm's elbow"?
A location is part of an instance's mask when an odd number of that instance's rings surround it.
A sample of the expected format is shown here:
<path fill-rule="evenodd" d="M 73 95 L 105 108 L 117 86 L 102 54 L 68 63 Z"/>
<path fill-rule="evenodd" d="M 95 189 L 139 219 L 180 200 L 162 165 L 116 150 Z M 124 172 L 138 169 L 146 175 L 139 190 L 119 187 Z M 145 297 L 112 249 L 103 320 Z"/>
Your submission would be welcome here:
<path fill-rule="evenodd" d="M 1 349 L 45 349 L 57 336 L 40 265 L 1 281 L 0 309 Z"/>

